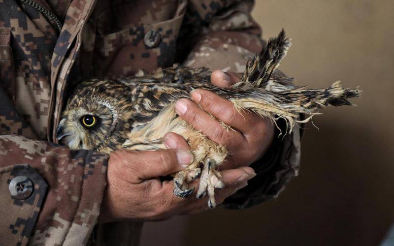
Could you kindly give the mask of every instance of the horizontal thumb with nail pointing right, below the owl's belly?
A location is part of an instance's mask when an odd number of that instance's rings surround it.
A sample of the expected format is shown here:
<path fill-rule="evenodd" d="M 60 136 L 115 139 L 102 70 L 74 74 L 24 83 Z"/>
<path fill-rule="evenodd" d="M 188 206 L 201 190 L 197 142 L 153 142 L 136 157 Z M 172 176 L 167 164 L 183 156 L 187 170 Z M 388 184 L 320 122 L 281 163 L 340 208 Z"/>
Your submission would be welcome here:
<path fill-rule="evenodd" d="M 166 176 L 179 172 L 193 162 L 194 156 L 188 150 L 123 151 L 120 158 L 126 171 L 134 172 L 141 180 Z M 111 158 L 111 156 L 110 156 Z"/>

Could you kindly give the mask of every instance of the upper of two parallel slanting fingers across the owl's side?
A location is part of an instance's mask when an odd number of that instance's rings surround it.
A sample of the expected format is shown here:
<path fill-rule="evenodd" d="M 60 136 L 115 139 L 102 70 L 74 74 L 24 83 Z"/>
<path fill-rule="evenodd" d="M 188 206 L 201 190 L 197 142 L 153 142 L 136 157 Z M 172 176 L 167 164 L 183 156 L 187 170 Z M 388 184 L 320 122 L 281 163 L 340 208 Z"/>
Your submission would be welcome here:
<path fill-rule="evenodd" d="M 254 125 L 262 123 L 261 117 L 249 111 L 240 113 L 234 107 L 234 104 L 207 90 L 194 90 L 191 93 L 192 99 L 204 111 L 215 116 L 218 120 L 230 125 L 242 134 L 248 134 L 254 131 Z"/>

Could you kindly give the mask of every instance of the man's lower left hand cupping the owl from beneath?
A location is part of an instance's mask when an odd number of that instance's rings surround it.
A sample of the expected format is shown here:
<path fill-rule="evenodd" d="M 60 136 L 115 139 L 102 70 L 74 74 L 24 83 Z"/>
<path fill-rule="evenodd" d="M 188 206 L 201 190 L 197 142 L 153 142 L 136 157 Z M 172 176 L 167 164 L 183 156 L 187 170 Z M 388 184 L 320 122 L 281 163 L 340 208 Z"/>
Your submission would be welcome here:
<path fill-rule="evenodd" d="M 158 178 L 178 172 L 193 161 L 193 154 L 181 136 L 167 133 L 164 142 L 168 148 L 175 143 L 177 149 L 141 152 L 118 150 L 110 154 L 108 184 L 101 205 L 100 223 L 162 220 L 208 209 L 207 197 L 198 200 L 194 194 L 182 199 L 172 193 L 172 181 L 161 182 Z M 226 170 L 222 175 L 226 187 L 216 192 L 218 204 L 245 187 L 247 181 L 256 176 L 250 167 Z M 191 185 L 197 186 L 198 179 Z"/>

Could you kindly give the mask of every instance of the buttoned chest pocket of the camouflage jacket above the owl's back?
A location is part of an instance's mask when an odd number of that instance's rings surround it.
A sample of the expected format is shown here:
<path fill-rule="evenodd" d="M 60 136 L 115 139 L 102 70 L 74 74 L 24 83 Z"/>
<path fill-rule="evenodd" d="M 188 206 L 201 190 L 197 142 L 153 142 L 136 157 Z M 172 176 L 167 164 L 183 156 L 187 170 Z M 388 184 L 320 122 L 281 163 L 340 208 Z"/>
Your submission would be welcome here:
<path fill-rule="evenodd" d="M 137 2 L 142 4 L 143 1 Z M 109 23 L 109 26 L 112 30 L 123 29 L 112 33 L 107 33 L 109 30 L 101 24 L 108 15 L 108 10 L 105 10 L 100 14 L 97 25 L 99 35 L 96 36 L 93 61 L 95 76 L 124 77 L 133 75 L 139 69 L 152 71 L 157 67 L 171 66 L 175 60 L 176 40 L 186 4 L 186 1 L 180 0 L 175 4 L 176 7 L 167 5 L 155 18 L 138 15 L 134 19 L 118 17 L 117 24 Z M 124 6 L 123 9 L 130 10 L 130 6 Z M 144 12 L 147 11 L 153 12 L 146 7 Z M 125 11 L 119 13 L 125 15 Z M 133 13 L 134 10 L 128 12 L 130 16 Z"/>

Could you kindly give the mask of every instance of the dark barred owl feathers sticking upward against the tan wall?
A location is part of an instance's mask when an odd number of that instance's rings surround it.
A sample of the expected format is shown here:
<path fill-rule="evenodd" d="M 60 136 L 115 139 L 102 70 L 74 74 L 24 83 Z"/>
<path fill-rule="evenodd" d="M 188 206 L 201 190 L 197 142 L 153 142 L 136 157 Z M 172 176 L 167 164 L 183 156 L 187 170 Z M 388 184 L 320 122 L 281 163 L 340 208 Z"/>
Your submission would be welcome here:
<path fill-rule="evenodd" d="M 285 58 L 292 43 L 286 37 L 285 31 L 275 38 L 270 38 L 268 44 L 259 54 L 246 64 L 241 82 L 233 87 L 263 87 Z"/>

